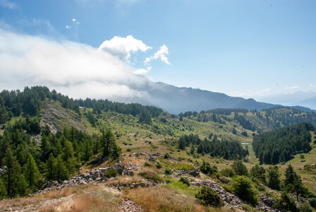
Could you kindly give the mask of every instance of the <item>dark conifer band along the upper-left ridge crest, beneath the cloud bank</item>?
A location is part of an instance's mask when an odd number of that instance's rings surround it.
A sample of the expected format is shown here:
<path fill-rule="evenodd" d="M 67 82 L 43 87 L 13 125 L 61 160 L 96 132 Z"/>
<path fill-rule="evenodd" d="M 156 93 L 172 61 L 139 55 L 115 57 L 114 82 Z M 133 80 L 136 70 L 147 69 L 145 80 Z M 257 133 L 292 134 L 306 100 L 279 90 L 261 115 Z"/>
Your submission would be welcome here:
<path fill-rule="evenodd" d="M 34 116 L 38 114 L 44 100 L 56 100 L 61 102 L 64 108 L 80 112 L 80 107 L 90 107 L 95 114 L 102 111 L 114 111 L 123 114 L 138 116 L 140 122 L 151 124 L 152 117 L 157 117 L 164 112 L 162 109 L 153 106 L 143 106 L 137 103 L 125 104 L 121 102 L 111 102 L 109 100 L 73 100 L 67 95 L 57 93 L 56 90 L 50 91 L 45 86 L 25 87 L 20 90 L 2 90 L 0 93 L 0 124 L 6 123 L 12 117 L 20 114 Z"/>

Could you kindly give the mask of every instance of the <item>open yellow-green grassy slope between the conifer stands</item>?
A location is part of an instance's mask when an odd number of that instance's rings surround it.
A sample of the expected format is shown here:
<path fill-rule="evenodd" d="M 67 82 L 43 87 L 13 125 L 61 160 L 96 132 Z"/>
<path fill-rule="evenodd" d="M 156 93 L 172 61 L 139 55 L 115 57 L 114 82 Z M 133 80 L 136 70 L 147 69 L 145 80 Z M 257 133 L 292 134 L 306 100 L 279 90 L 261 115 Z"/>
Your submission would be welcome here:
<path fill-rule="evenodd" d="M 245 165 L 250 169 L 255 164 L 259 164 L 259 160 L 255 158 L 255 153 L 251 146 L 253 141 L 253 131 L 243 129 L 238 122 L 233 121 L 233 114 L 226 116 L 231 121 L 225 121 L 225 124 L 219 124 L 217 122 L 197 122 L 197 117 L 183 118 L 183 121 L 179 121 L 178 118 L 172 118 L 170 114 L 162 114 L 159 117 L 152 119 L 152 124 L 142 124 L 138 122 L 138 117 L 133 117 L 130 114 L 119 114 L 117 112 L 102 112 L 102 114 L 95 114 L 96 122 L 92 126 L 85 114 L 88 111 L 92 111 L 88 108 L 80 109 L 80 116 L 71 110 L 66 110 L 61 107 L 59 102 L 49 101 L 45 104 L 45 108 L 42 110 L 42 117 L 47 117 L 47 113 L 50 114 L 50 119 L 42 119 L 42 123 L 54 125 L 56 129 L 63 129 L 65 126 L 75 126 L 78 129 L 83 129 L 90 134 L 99 133 L 102 129 L 111 129 L 116 134 L 116 141 L 122 147 L 123 152 L 130 151 L 135 152 L 147 152 L 147 153 L 170 153 L 174 158 L 185 158 L 186 160 L 193 160 L 195 164 L 202 163 L 205 160 L 212 165 L 217 165 L 219 170 L 231 165 L 232 161 L 223 160 L 221 158 L 212 158 L 208 155 L 199 158 L 193 158 L 192 155 L 188 155 L 186 151 L 179 151 L 176 148 L 176 141 L 179 136 L 183 134 L 198 134 L 201 139 L 208 137 L 209 134 L 217 135 L 219 139 L 236 140 L 243 143 L 243 146 L 248 146 L 249 161 Z M 288 112 L 288 109 L 278 109 L 277 112 Z M 262 116 L 265 116 L 265 112 L 261 112 Z M 208 117 L 211 114 L 207 114 Z M 166 122 L 162 122 L 161 119 L 166 119 Z M 261 119 L 255 117 L 252 113 L 247 113 L 246 118 L 256 126 L 260 126 L 262 130 L 271 130 L 269 126 Z M 232 129 L 235 128 L 237 134 L 232 134 Z M 241 131 L 247 131 L 248 137 L 241 136 Z M 312 134 L 312 137 L 314 135 Z M 312 146 L 315 147 L 314 144 Z M 315 182 L 315 170 L 310 172 L 304 170 L 304 165 L 316 164 L 316 148 L 312 148 L 310 153 L 305 154 L 305 161 L 300 161 L 300 154 L 295 155 L 293 160 L 288 161 L 285 164 L 279 164 L 281 173 L 284 173 L 288 164 L 292 164 L 295 170 L 302 175 L 303 182 L 312 189 L 316 186 Z M 265 165 L 268 167 L 268 165 Z"/>

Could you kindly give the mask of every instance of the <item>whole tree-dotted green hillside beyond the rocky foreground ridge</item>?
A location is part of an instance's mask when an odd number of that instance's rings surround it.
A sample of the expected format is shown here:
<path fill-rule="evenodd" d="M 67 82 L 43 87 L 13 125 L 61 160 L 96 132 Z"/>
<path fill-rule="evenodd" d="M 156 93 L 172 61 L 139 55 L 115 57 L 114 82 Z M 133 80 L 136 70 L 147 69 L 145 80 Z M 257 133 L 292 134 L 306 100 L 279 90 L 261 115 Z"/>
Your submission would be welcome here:
<path fill-rule="evenodd" d="M 136 169 L 138 175 L 144 178 L 138 179 L 140 182 L 145 179 L 159 181 L 162 180 L 159 176 L 166 175 L 162 178 L 171 182 L 169 189 L 193 197 L 198 188 L 192 190 L 183 187 L 177 177 L 168 177 L 167 173 L 198 167 L 202 171 L 200 178 L 190 180 L 211 180 L 233 193 L 233 183 L 243 180 L 235 175 L 239 175 L 239 170 L 243 170 L 245 165 L 247 173 L 240 175 L 247 175 L 246 179 L 252 180 L 255 189 L 274 199 L 280 196 L 279 190 L 289 189 L 284 186 L 283 180 L 291 164 L 299 176 L 297 179 L 303 182 L 300 189 L 306 189 L 304 194 L 298 196 L 305 201 L 308 196 L 316 198 L 313 194 L 316 186 L 315 113 L 277 107 L 259 112 L 217 109 L 168 114 L 157 107 L 139 104 L 73 100 L 39 86 L 25 88 L 22 92 L 2 91 L 0 112 L 0 167 L 5 170 L 3 165 L 8 167 L 11 161 L 15 170 L 13 176 L 23 179 L 14 182 L 14 187 L 25 188 L 8 189 L 8 173 L 4 171 L 5 174 L 0 177 L 0 190 L 1 185 L 7 189 L 1 198 L 36 192 L 44 182 L 57 180 L 61 183 L 84 170 L 107 167 L 118 161 L 126 165 L 142 164 L 140 169 Z M 298 124 L 303 122 L 310 124 Z M 308 127 L 301 129 L 298 126 Z M 291 137 L 287 133 L 292 131 L 302 133 L 302 136 L 308 134 L 306 142 L 309 148 L 307 151 L 303 148 L 289 152 L 286 160 L 273 160 L 281 176 L 279 190 L 275 190 L 269 185 L 269 175 L 275 169 L 265 165 L 270 160 L 262 159 L 269 158 L 269 154 L 258 158 L 255 155 L 260 155 L 260 151 L 273 155 L 276 151 L 274 141 L 280 142 L 278 151 L 291 146 L 286 143 L 288 139 L 281 139 L 281 136 L 286 134 Z M 263 142 L 265 136 L 272 138 L 266 139 L 269 145 Z M 305 139 L 299 143 L 302 142 Z M 126 157 L 130 153 L 159 153 L 164 158 L 148 163 L 140 157 L 130 160 Z M 272 155 L 270 158 L 273 158 Z M 257 166 L 259 164 L 264 165 Z M 28 178 L 27 167 L 37 170 L 34 180 Z"/>

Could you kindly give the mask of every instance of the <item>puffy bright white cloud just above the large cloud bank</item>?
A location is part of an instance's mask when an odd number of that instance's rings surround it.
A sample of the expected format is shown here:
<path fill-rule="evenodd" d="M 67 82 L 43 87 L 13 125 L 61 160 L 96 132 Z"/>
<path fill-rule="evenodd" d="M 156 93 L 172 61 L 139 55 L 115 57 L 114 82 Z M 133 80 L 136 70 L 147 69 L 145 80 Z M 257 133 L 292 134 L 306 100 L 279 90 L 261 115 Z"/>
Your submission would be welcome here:
<path fill-rule="evenodd" d="M 152 49 L 152 47 L 145 45 L 145 43 L 135 39 L 132 35 L 126 37 L 114 36 L 111 40 L 105 40 L 99 46 L 99 50 L 109 52 L 109 54 L 118 57 L 124 62 L 129 62 L 130 52 L 146 52 L 148 49 Z"/>

